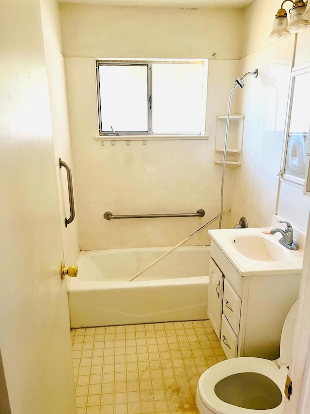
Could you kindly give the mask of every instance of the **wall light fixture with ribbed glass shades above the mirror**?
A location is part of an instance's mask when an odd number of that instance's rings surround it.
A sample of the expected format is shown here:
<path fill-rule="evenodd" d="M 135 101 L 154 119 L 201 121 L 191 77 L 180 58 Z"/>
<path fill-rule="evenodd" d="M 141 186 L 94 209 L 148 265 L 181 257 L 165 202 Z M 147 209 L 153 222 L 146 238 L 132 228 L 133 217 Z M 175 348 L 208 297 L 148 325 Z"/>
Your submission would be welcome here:
<path fill-rule="evenodd" d="M 291 3 L 293 3 L 293 7 L 290 10 L 290 22 L 288 21 L 286 10 L 283 9 L 283 4 L 286 1 L 291 1 Z M 276 18 L 269 37 L 276 37 L 278 39 L 281 39 L 282 37 L 289 36 L 292 33 L 296 33 L 301 29 L 309 27 L 309 20 L 310 2 L 308 3 L 307 0 L 306 2 L 303 0 L 284 0 L 281 4 L 281 8 L 276 14 Z"/>

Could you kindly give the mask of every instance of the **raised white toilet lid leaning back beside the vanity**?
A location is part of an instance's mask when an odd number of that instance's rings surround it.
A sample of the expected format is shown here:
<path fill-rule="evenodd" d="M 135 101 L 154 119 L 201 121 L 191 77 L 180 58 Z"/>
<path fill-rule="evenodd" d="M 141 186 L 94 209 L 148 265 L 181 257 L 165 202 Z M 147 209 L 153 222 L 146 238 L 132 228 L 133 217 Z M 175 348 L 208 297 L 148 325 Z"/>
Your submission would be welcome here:
<path fill-rule="evenodd" d="M 290 366 L 293 348 L 294 328 L 298 312 L 298 300 L 287 314 L 281 333 L 279 366 Z"/>

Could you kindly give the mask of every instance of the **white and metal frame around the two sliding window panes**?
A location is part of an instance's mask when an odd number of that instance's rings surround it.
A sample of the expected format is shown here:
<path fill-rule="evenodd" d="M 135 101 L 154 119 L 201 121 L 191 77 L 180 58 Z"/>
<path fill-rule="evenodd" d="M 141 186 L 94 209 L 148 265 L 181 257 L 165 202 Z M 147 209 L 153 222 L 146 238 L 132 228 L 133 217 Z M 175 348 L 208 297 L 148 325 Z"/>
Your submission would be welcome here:
<path fill-rule="evenodd" d="M 149 60 L 104 60 L 96 59 L 96 81 L 97 81 L 97 107 L 98 107 L 98 131 L 100 137 L 110 137 L 110 136 L 143 136 L 146 139 L 148 137 L 156 136 L 204 136 L 205 135 L 205 122 L 206 122 L 206 104 L 207 104 L 207 69 L 208 69 L 208 60 L 207 59 L 149 59 Z M 182 133 L 182 132 L 153 132 L 152 128 L 152 66 L 153 64 L 202 64 L 203 69 L 203 83 L 202 83 L 202 119 L 201 119 L 201 129 L 200 132 L 191 132 L 191 133 Z M 148 76 L 147 76 L 147 91 L 148 91 L 148 131 L 127 131 L 127 132 L 109 132 L 102 131 L 102 120 L 101 120 L 101 99 L 100 99 L 100 80 L 99 80 L 99 67 L 100 66 L 147 66 Z"/>

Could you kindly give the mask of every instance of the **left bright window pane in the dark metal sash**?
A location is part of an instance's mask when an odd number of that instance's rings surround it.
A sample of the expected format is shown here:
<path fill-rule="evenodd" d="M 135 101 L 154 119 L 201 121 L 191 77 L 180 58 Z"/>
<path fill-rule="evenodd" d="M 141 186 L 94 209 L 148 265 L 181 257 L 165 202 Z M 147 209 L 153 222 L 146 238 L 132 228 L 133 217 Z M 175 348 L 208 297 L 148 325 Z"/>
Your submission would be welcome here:
<path fill-rule="evenodd" d="M 148 67 L 99 66 L 101 129 L 148 131 Z"/>

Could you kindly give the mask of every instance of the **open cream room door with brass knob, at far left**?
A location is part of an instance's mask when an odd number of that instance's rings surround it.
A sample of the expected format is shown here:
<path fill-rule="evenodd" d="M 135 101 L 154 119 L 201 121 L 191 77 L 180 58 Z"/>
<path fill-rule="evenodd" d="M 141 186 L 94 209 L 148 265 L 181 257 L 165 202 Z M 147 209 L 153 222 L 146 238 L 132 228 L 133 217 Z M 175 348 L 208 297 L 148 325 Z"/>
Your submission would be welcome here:
<path fill-rule="evenodd" d="M 8 396 L 3 414 L 74 414 L 39 1 L 0 0 L 0 26 L 0 381 L 4 376 Z"/>

